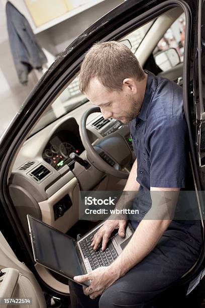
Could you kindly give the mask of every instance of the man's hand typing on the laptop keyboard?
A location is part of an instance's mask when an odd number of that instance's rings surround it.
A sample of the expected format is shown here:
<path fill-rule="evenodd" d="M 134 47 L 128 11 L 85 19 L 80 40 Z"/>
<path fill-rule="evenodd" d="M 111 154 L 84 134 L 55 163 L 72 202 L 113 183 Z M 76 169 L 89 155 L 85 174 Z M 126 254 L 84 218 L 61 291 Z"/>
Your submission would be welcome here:
<path fill-rule="evenodd" d="M 100 242 L 102 241 L 102 251 L 106 249 L 106 246 L 109 241 L 109 237 L 113 230 L 119 229 L 118 234 L 121 237 L 125 236 L 125 226 L 126 226 L 127 220 L 122 219 L 122 220 L 106 220 L 104 224 L 98 229 L 98 231 L 95 233 L 91 247 L 93 249 L 97 249 Z"/>

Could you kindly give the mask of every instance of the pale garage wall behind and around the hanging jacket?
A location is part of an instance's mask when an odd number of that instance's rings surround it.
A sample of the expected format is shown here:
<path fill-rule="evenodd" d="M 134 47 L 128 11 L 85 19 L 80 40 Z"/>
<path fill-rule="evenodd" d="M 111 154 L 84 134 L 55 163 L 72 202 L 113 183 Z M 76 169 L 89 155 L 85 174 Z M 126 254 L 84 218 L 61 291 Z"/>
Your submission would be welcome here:
<path fill-rule="evenodd" d="M 15 1 L 11 2 L 15 5 Z M 105 0 L 50 29 L 36 34 L 39 43 L 45 49 L 46 55 L 49 58 L 48 64 L 50 65 L 55 56 L 63 51 L 81 32 L 122 2 L 124 0 Z M 41 73 L 32 71 L 29 75 L 27 86 L 22 86 L 18 81 L 10 51 L 5 4 L 5 0 L 0 1 L 0 108 L 3 111 L 0 115 L 0 135 L 41 77 Z M 21 10 L 32 24 L 31 16 L 25 10 L 24 1 L 18 0 L 16 6 L 17 4 L 17 8 Z M 33 24 L 31 26 L 33 27 Z"/>

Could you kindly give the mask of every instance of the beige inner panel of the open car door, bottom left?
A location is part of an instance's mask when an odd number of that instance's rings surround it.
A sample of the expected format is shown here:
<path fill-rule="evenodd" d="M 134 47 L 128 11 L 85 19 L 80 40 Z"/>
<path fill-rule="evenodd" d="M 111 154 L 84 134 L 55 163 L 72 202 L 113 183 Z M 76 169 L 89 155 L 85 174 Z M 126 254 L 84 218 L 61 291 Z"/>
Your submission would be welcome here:
<path fill-rule="evenodd" d="M 0 304 L 4 307 L 46 307 L 43 291 L 34 274 L 20 262 L 0 232 Z"/>

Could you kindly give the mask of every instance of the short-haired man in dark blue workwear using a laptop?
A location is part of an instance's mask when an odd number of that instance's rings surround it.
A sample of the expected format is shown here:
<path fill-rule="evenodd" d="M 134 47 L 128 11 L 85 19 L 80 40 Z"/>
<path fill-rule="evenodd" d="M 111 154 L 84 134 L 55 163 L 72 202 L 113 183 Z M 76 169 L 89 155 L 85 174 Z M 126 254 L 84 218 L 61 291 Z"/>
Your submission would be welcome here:
<path fill-rule="evenodd" d="M 182 89 L 144 71 L 132 51 L 114 41 L 94 44 L 87 52 L 79 87 L 100 107 L 105 119 L 129 123 L 137 160 L 124 190 L 139 191 L 141 197 L 134 206 L 145 218 L 149 210 L 157 208 L 155 192 L 178 194 L 187 184 L 188 137 Z M 151 209 L 143 202 L 144 192 L 150 192 Z M 93 238 L 93 249 L 102 240 L 105 250 L 115 228 L 124 236 L 126 222 L 106 220 Z M 198 221 L 171 221 L 162 210 L 157 218 L 131 222 L 135 233 L 110 266 L 74 278 L 78 282 L 91 280 L 89 287 L 83 287 L 84 294 L 80 285 L 69 283 L 73 308 L 145 307 L 197 260 L 201 245 Z"/>

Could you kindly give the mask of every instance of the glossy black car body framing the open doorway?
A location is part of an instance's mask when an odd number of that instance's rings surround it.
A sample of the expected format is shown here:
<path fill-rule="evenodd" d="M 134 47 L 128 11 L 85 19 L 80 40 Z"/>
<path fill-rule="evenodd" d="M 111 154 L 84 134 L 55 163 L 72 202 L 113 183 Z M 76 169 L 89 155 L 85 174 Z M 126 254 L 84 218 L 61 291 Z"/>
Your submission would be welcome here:
<path fill-rule="evenodd" d="M 183 59 L 184 111 L 189 130 L 193 182 L 203 218 L 204 200 L 203 194 L 199 192 L 204 191 L 205 170 L 203 161 L 205 151 L 205 118 L 203 113 L 205 100 L 205 3 L 203 0 L 127 0 L 96 21 L 60 54 L 33 89 L 1 138 L 1 232 L 17 258 L 30 268 L 39 281 L 41 288 L 51 295 L 64 299 L 67 297 L 63 292 L 49 286 L 35 270 L 29 238 L 22 226 L 21 218 L 17 214 L 14 200 L 11 198 L 8 187 L 12 173 L 12 164 L 36 121 L 61 90 L 74 78 L 85 52 L 95 41 L 120 40 L 134 29 L 145 25 L 151 20 L 155 21 L 160 15 L 176 7 L 184 11 L 186 19 Z M 143 41 L 141 42 L 142 44 Z M 149 69 L 151 67 L 149 65 L 150 62 L 147 59 L 146 68 Z M 157 73 L 155 68 L 153 68 L 153 72 Z M 189 282 L 204 267 L 204 253 L 203 244 L 197 264 L 189 273 L 181 278 L 172 292 L 179 295 L 182 294 L 185 298 Z M 177 290 L 178 293 L 176 293 Z M 163 307 L 169 306 L 166 301 L 162 302 Z M 179 300 L 176 300 L 176 304 L 179 304 L 179 302 Z M 179 306 L 182 306 L 182 303 Z"/>

